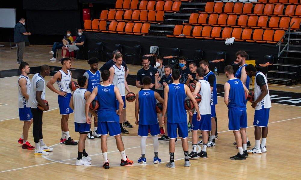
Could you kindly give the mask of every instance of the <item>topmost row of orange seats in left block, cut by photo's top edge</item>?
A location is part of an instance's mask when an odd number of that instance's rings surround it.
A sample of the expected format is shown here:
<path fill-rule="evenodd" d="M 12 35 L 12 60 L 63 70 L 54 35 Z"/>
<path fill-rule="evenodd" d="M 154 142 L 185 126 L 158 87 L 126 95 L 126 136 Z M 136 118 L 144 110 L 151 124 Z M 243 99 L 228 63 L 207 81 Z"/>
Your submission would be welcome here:
<path fill-rule="evenodd" d="M 119 0 L 117 0 L 118 2 Z M 120 0 L 122 2 L 122 0 Z M 123 4 L 117 4 L 116 2 L 116 9 L 139 9 L 139 10 L 157 10 L 157 11 L 167 11 L 167 12 L 173 12 L 173 11 L 180 11 L 181 1 L 146 1 L 142 0 L 140 1 L 139 8 L 138 8 L 138 0 L 124 0 Z M 119 2 L 118 2 L 119 3 Z M 156 8 L 155 8 L 156 7 Z M 110 9 L 110 10 L 116 10 L 116 9 Z"/>

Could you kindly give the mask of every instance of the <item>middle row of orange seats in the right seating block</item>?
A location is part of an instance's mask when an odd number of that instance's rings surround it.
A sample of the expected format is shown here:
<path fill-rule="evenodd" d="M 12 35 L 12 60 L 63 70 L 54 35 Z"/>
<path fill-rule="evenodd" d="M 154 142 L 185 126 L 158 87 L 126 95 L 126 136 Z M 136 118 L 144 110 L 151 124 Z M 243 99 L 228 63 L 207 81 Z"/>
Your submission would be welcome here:
<path fill-rule="evenodd" d="M 294 24 L 293 24 L 294 22 Z M 278 16 L 247 16 L 240 15 L 237 20 L 236 14 L 197 14 L 192 13 L 189 17 L 189 23 L 183 23 L 186 25 L 203 25 L 203 26 L 232 26 L 243 28 L 263 28 L 263 29 L 285 29 L 287 30 L 292 24 L 292 29 L 300 28 L 300 17 L 278 17 Z"/>

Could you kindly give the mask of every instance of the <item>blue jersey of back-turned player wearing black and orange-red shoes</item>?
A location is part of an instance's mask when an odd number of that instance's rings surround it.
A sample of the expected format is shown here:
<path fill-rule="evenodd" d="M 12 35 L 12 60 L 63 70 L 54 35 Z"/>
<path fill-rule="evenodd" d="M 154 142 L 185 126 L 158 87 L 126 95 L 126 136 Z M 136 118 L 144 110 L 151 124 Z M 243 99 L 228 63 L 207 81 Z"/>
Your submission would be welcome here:
<path fill-rule="evenodd" d="M 97 91 L 97 100 L 99 109 L 97 111 L 99 122 L 119 122 L 119 116 L 116 114 L 116 95 L 114 85 L 99 85 Z"/>

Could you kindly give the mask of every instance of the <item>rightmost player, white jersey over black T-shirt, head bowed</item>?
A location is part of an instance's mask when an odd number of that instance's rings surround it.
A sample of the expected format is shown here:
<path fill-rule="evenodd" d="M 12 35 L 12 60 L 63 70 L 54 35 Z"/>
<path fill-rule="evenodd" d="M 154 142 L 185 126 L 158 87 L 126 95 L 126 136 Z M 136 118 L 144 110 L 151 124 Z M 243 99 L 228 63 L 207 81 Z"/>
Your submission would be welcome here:
<path fill-rule="evenodd" d="M 251 107 L 255 108 L 254 115 L 254 134 L 255 146 L 248 150 L 249 154 L 260 154 L 266 152 L 266 137 L 268 136 L 268 116 L 270 113 L 271 99 L 268 92 L 268 83 L 265 75 L 256 70 L 254 65 L 246 66 L 246 72 L 250 78 L 255 76 L 255 101 L 252 102 Z M 260 144 L 261 137 L 261 144 Z"/>

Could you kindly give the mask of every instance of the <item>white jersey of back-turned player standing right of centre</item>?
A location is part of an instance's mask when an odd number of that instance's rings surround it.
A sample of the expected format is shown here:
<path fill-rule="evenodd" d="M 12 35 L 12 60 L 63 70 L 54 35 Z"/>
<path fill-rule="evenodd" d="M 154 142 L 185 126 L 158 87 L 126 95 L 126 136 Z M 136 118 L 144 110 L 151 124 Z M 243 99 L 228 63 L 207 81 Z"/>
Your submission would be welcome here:
<path fill-rule="evenodd" d="M 205 79 L 199 80 L 197 83 L 201 83 L 201 89 L 199 94 L 202 96 L 202 100 L 199 104 L 199 110 L 200 114 L 206 115 L 211 114 L 211 88 L 208 81 Z M 194 110 L 194 114 L 196 114 L 197 111 Z"/>

